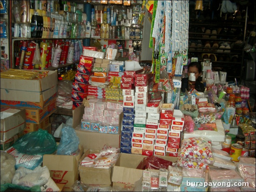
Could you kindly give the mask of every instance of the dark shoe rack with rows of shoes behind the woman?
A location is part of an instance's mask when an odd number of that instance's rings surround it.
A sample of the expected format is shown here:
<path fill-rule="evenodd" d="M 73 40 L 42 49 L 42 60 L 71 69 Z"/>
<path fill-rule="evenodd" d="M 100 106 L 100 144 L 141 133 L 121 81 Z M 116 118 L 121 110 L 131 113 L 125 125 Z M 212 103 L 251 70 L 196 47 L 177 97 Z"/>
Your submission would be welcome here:
<path fill-rule="evenodd" d="M 213 70 L 227 72 L 227 81 L 241 81 L 246 18 L 231 14 L 213 19 L 190 15 L 189 57 L 198 57 L 199 62 L 211 59 Z"/>

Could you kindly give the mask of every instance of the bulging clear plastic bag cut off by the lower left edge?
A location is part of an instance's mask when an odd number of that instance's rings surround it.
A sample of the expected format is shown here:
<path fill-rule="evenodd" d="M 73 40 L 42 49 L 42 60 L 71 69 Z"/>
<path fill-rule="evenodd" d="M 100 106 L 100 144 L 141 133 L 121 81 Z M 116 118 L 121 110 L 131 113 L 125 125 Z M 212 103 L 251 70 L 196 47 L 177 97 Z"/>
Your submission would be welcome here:
<path fill-rule="evenodd" d="M 1 151 L 1 185 L 11 183 L 15 174 L 15 164 L 16 160 L 11 154 Z"/>

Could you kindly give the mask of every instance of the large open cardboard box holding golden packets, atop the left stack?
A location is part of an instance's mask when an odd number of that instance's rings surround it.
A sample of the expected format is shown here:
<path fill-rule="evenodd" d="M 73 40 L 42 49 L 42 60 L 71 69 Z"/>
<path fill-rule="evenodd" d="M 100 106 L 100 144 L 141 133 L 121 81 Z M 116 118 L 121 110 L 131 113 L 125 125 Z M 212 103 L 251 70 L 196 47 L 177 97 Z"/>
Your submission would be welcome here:
<path fill-rule="evenodd" d="M 42 79 L 1 78 L 1 105 L 42 109 L 56 97 L 57 81 L 57 71 Z"/>

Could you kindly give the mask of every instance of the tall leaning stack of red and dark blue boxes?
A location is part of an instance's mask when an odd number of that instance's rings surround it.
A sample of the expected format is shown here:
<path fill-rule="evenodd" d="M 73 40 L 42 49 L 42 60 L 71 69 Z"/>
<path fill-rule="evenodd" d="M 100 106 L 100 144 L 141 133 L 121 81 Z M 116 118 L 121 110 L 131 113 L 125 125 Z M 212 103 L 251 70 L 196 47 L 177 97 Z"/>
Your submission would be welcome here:
<path fill-rule="evenodd" d="M 83 99 L 88 95 L 88 81 L 91 74 L 91 69 L 94 64 L 93 57 L 80 56 L 75 82 L 72 84 L 72 101 L 73 109 L 82 104 Z"/>

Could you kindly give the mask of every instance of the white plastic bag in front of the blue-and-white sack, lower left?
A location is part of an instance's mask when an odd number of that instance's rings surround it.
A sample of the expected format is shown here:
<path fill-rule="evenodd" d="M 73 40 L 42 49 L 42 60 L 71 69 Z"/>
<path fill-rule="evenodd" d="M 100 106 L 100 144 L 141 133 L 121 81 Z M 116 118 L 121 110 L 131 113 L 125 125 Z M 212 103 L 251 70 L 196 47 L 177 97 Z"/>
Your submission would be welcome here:
<path fill-rule="evenodd" d="M 15 172 L 12 183 L 26 187 L 41 186 L 48 182 L 49 177 L 50 172 L 47 166 L 38 166 L 34 170 L 19 167 Z"/>

